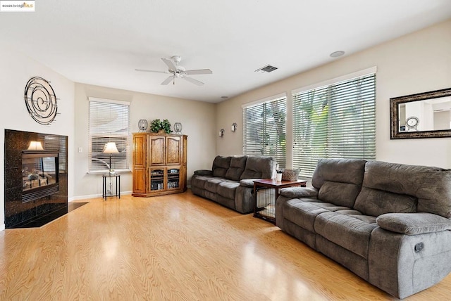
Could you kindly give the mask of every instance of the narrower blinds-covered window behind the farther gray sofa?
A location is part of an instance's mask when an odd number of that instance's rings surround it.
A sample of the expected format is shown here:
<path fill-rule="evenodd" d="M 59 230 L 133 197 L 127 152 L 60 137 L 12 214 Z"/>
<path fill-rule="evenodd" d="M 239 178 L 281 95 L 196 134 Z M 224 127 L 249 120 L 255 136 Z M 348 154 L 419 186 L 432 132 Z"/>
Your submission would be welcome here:
<path fill-rule="evenodd" d="M 243 154 L 268 155 L 285 167 L 286 97 L 242 108 Z"/>

